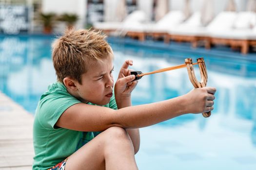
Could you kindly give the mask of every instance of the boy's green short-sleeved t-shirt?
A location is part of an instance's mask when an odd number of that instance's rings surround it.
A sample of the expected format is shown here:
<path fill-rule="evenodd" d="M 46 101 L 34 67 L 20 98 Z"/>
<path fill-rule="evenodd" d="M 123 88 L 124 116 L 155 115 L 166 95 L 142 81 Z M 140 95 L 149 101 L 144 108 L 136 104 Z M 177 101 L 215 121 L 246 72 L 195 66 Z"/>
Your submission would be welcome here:
<path fill-rule="evenodd" d="M 61 114 L 76 103 L 80 101 L 70 95 L 66 87 L 59 82 L 49 85 L 48 90 L 42 94 L 33 127 L 35 150 L 33 170 L 47 170 L 53 167 L 100 133 L 55 127 Z M 117 109 L 114 95 L 104 107 Z"/>

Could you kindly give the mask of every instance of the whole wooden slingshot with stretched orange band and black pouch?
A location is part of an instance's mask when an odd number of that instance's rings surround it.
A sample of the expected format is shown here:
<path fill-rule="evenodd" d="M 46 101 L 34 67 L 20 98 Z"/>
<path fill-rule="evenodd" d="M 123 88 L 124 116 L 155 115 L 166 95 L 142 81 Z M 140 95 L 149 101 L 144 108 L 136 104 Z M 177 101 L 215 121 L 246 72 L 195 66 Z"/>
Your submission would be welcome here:
<path fill-rule="evenodd" d="M 194 72 L 194 65 L 197 65 L 199 67 L 200 70 L 200 76 L 201 76 L 201 80 L 200 82 L 197 81 L 195 72 Z M 158 72 L 163 72 L 163 71 L 169 71 L 169 70 L 174 70 L 174 69 L 178 69 L 178 68 L 187 68 L 188 70 L 188 75 L 189 75 L 189 79 L 192 83 L 192 85 L 194 85 L 195 88 L 200 88 L 200 87 L 205 87 L 207 84 L 207 71 L 206 71 L 206 67 L 205 67 L 205 63 L 204 63 L 204 59 L 203 58 L 197 58 L 197 63 L 193 63 L 191 58 L 186 58 L 185 59 L 185 64 L 182 65 L 178 65 L 178 66 L 173 66 L 173 67 L 169 67 L 169 68 L 162 68 L 162 69 L 158 69 L 155 71 L 151 71 L 148 73 L 142 73 L 141 71 L 131 71 L 131 74 L 135 75 L 135 80 L 139 80 L 142 78 L 142 76 L 144 75 L 149 75 L 149 74 L 155 74 Z M 202 113 L 203 117 L 208 118 L 211 116 L 211 111 L 209 112 L 205 112 Z"/>

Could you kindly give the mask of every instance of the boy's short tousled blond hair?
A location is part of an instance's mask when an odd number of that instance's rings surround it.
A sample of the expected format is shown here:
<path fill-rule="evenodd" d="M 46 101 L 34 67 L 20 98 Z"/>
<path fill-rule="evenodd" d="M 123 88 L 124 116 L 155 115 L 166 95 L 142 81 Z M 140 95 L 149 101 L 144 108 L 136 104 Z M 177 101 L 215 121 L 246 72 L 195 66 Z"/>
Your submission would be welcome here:
<path fill-rule="evenodd" d="M 70 77 L 81 84 L 81 75 L 91 61 L 101 62 L 103 58 L 112 57 L 106 37 L 93 30 L 67 29 L 57 38 L 52 44 L 52 58 L 58 81 L 63 83 L 65 77 Z"/>

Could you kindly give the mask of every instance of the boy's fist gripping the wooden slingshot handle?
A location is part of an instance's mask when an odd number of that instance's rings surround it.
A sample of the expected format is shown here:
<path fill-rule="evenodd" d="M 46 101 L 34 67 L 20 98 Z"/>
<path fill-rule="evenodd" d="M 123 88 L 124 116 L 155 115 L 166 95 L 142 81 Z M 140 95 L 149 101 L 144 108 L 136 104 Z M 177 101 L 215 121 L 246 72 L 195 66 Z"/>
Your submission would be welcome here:
<path fill-rule="evenodd" d="M 204 113 L 214 109 L 216 88 L 194 88 L 185 95 L 187 113 Z"/>

